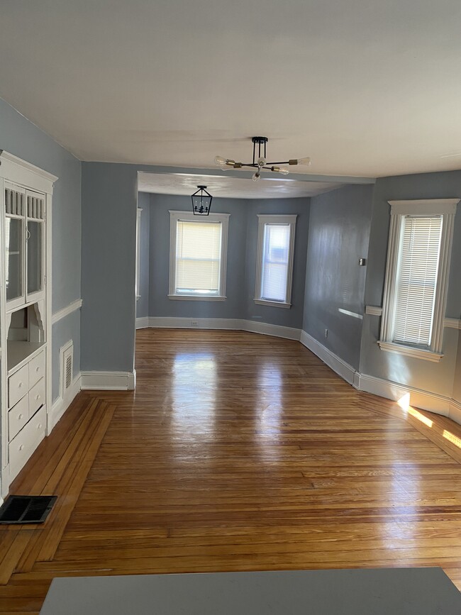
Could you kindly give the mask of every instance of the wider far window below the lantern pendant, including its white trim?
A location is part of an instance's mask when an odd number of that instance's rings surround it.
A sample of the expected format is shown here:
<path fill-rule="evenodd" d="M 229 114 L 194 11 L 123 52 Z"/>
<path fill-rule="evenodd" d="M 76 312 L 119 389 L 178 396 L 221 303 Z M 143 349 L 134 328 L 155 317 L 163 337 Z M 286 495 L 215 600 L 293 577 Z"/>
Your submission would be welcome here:
<path fill-rule="evenodd" d="M 226 299 L 228 220 L 170 211 L 170 299 Z"/>

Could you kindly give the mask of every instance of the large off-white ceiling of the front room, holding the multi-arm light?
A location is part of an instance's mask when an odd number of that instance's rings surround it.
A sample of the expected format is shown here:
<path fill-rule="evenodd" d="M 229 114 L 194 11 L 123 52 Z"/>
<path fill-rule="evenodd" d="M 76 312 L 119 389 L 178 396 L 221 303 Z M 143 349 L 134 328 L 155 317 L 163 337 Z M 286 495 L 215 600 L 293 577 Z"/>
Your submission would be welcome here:
<path fill-rule="evenodd" d="M 15 0 L 0 96 L 82 160 L 461 167 L 459 0 Z"/>

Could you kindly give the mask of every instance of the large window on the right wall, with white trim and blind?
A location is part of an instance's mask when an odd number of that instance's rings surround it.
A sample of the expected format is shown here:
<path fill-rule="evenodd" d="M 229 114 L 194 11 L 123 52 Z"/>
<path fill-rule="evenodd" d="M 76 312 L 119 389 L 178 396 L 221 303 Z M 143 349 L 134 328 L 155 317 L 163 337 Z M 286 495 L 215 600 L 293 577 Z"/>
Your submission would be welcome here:
<path fill-rule="evenodd" d="M 389 201 L 382 350 L 442 358 L 453 220 L 459 199 Z"/>

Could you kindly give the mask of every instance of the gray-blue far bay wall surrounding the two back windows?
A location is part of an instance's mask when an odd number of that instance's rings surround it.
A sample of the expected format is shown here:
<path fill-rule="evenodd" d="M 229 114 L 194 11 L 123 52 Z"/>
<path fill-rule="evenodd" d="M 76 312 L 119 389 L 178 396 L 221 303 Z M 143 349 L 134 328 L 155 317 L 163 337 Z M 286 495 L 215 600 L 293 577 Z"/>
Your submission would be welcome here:
<path fill-rule="evenodd" d="M 150 195 L 149 316 L 248 318 L 280 326 L 301 328 L 309 199 L 213 199 L 214 212 L 230 214 L 226 301 L 176 301 L 167 297 L 170 271 L 169 211 L 189 211 L 189 209 L 190 198 L 187 196 Z M 257 214 L 298 214 L 291 309 L 255 304 Z M 143 242 L 147 223 L 148 218 L 144 218 L 141 235 L 141 270 L 147 268 L 145 259 L 148 253 L 145 249 L 145 241 Z M 137 316 L 146 315 L 141 313 L 138 307 Z"/>

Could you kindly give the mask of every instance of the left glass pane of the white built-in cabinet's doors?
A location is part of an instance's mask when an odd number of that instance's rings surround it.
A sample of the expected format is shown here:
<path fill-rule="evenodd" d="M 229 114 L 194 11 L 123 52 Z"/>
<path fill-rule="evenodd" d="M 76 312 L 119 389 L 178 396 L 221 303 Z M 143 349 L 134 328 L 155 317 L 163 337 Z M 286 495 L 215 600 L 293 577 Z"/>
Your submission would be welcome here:
<path fill-rule="evenodd" d="M 23 297 L 23 218 L 5 218 L 6 301 Z"/>

